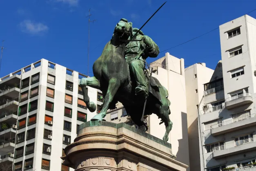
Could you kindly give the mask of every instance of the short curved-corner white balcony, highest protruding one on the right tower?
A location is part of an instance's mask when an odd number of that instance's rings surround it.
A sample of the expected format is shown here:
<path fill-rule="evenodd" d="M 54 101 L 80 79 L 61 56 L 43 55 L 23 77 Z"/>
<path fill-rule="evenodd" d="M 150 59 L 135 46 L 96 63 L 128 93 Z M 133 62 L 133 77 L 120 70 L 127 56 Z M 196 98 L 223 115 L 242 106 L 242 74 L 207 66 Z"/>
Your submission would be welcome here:
<path fill-rule="evenodd" d="M 253 98 L 251 93 L 244 93 L 238 96 L 229 97 L 225 99 L 225 107 L 227 109 L 232 109 L 241 105 L 253 103 Z"/>

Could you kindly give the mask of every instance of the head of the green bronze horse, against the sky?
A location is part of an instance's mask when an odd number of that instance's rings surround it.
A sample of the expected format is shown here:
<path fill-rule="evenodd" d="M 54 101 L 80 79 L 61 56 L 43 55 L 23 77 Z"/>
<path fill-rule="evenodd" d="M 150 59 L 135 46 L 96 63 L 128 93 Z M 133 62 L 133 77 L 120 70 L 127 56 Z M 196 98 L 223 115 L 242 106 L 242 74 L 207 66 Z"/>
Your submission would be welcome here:
<path fill-rule="evenodd" d="M 132 23 L 122 18 L 120 22 L 116 24 L 114 34 L 120 37 L 120 39 L 128 39 L 132 34 Z"/>

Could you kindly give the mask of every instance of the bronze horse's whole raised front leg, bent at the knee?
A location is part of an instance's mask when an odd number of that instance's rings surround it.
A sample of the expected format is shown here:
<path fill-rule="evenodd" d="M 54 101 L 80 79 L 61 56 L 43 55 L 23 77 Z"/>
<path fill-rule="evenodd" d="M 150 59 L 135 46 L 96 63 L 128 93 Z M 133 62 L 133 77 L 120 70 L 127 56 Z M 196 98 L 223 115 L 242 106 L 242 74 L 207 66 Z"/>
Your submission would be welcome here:
<path fill-rule="evenodd" d="M 82 88 L 82 93 L 84 95 L 84 102 L 87 106 L 87 109 L 89 109 L 90 112 L 94 112 L 96 110 L 96 105 L 95 103 L 90 102 L 86 85 L 92 88 L 100 89 L 100 81 L 98 81 L 96 77 L 82 78 L 80 80 L 80 87 Z"/>

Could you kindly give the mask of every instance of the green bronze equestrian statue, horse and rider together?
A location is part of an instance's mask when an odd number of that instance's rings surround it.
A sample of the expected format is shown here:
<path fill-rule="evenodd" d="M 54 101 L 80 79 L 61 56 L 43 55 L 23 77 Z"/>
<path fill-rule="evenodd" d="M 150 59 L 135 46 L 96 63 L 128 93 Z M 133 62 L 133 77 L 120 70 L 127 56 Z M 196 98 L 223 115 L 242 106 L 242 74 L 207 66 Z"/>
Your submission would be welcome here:
<path fill-rule="evenodd" d="M 86 86 L 100 89 L 104 96 L 104 104 L 100 113 L 94 116 L 91 121 L 102 121 L 107 110 L 114 109 L 116 102 L 120 101 L 138 128 L 146 131 L 148 127 L 140 119 L 142 118 L 145 96 L 148 96 L 145 115 L 154 113 L 158 118 L 161 118 L 160 124 L 165 123 L 166 127 L 163 140 L 168 141 L 169 132 L 172 128 L 172 122 L 169 119 L 171 113 L 169 105 L 171 103 L 168 100 L 168 92 L 155 77 L 151 77 L 149 83 L 149 78 L 144 75 L 146 71 L 142 72 L 145 69 L 145 59 L 148 56 L 156 57 L 159 49 L 153 40 L 142 32 L 136 34 L 137 43 L 134 44 L 131 41 L 127 44 L 127 41 L 134 37 L 136 31 L 138 29 L 133 29 L 132 23 L 126 19 L 121 19 L 116 24 L 111 40 L 105 45 L 102 54 L 93 64 L 94 77 L 82 78 L 80 81 L 84 101 L 89 111 L 94 112 L 96 105 L 90 102 Z M 131 61 L 134 61 L 134 65 Z M 139 66 L 136 66 L 137 64 Z M 142 84 L 143 86 L 140 86 Z M 149 90 L 145 84 L 150 84 Z"/>

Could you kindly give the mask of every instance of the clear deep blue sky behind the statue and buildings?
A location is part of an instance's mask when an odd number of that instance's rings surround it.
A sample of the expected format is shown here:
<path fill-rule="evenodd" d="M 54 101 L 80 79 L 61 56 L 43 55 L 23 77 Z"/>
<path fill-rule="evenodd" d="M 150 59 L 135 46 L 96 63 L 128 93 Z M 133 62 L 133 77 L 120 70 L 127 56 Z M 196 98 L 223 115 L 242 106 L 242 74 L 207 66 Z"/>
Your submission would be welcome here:
<path fill-rule="evenodd" d="M 90 62 L 111 39 L 116 23 L 126 18 L 142 24 L 165 0 L 2 0 L 0 41 L 5 40 L 0 77 L 42 58 L 80 73 L 87 72 L 88 10 L 91 8 Z M 142 31 L 160 51 L 200 36 L 256 9 L 255 0 L 169 0 Z M 256 18 L 256 10 L 249 13 Z M 214 69 L 220 55 L 219 30 L 166 52 L 189 66 L 205 62 Z M 165 52 L 158 55 L 163 57 Z M 154 59 L 147 59 L 148 62 Z"/>

